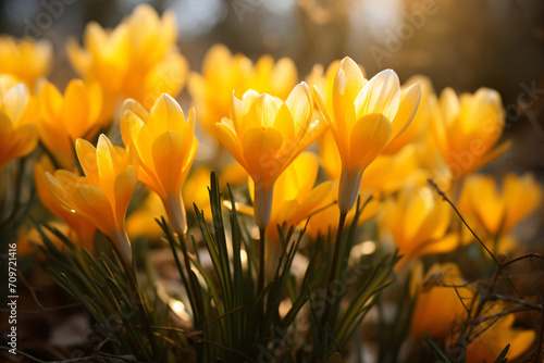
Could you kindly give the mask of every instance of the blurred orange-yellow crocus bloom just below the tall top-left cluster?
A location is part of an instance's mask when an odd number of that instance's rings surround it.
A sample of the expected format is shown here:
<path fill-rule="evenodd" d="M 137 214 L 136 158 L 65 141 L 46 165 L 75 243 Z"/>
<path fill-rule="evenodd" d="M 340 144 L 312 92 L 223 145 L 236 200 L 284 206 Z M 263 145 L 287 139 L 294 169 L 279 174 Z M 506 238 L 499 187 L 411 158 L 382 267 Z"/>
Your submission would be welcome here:
<path fill-rule="evenodd" d="M 100 87 L 73 79 L 61 95 L 52 84 L 47 84 L 39 95 L 39 105 L 38 133 L 41 141 L 59 165 L 72 168 L 75 164 L 75 140 L 91 140 L 104 126 L 100 118 Z"/>

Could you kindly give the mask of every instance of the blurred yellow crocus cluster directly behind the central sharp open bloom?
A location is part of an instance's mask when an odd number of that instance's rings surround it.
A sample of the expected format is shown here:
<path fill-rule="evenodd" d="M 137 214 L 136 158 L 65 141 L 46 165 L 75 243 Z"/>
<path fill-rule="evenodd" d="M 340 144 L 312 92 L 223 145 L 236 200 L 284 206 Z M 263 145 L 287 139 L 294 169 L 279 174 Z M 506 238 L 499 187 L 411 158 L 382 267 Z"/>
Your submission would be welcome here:
<path fill-rule="evenodd" d="M 223 45 L 212 46 L 206 53 L 201 74 L 193 73 L 189 91 L 206 132 L 221 141 L 214 124 L 228 117 L 232 95 L 242 97 L 247 89 L 285 100 L 298 79 L 297 68 L 288 58 L 277 62 L 270 55 L 256 64 L 243 54 L 232 54 Z"/>

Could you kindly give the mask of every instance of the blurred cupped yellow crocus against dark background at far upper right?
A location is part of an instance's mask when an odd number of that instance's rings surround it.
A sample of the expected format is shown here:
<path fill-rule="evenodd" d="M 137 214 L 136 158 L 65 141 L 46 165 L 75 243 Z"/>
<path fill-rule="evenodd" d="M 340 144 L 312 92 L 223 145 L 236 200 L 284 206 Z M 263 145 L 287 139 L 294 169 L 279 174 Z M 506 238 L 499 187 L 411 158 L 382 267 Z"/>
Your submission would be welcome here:
<path fill-rule="evenodd" d="M 481 168 L 510 146 L 506 141 L 493 149 L 505 126 L 500 95 L 493 89 L 460 97 L 452 88 L 444 89 L 435 118 L 436 141 L 454 179 Z"/>

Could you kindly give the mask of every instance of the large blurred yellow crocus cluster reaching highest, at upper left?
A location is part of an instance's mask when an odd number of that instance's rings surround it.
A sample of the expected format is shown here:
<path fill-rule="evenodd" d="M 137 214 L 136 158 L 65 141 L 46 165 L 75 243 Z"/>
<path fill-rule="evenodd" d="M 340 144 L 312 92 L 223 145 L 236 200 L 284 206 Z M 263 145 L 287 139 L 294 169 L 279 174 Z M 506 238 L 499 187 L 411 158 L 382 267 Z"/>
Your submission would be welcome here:
<path fill-rule="evenodd" d="M 116 98 L 133 98 L 149 109 L 157 97 L 177 96 L 188 72 L 185 58 L 175 47 L 175 18 L 171 12 L 159 17 L 149 5 L 112 30 L 97 23 L 87 25 L 84 48 L 67 42 L 70 60 L 86 82 L 98 82 L 104 91 L 104 114 L 111 116 Z"/>

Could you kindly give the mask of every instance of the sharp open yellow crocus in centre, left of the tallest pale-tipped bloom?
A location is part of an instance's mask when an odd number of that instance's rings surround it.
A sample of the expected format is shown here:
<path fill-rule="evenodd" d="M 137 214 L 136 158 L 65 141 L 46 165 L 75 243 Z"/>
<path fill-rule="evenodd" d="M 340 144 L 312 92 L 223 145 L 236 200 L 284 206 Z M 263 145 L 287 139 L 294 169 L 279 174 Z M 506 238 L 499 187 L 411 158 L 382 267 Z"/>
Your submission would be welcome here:
<path fill-rule="evenodd" d="M 312 99 L 305 83 L 285 102 L 255 90 L 242 100 L 232 98 L 231 118 L 217 124 L 225 148 L 255 183 L 255 221 L 269 224 L 273 186 L 283 171 L 318 137 L 319 121 L 311 122 Z"/>

